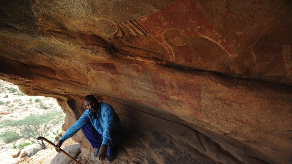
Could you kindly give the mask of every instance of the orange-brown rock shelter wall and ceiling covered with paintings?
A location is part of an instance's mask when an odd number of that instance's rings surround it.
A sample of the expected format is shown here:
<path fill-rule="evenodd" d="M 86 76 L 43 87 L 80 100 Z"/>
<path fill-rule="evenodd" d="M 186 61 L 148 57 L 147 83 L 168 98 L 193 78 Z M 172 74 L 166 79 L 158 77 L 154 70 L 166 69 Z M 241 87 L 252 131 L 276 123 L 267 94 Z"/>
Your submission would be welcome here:
<path fill-rule="evenodd" d="M 125 128 L 114 163 L 291 163 L 290 1 L 1 1 L 0 78 L 84 96 Z M 85 136 L 79 160 L 95 163 Z"/>

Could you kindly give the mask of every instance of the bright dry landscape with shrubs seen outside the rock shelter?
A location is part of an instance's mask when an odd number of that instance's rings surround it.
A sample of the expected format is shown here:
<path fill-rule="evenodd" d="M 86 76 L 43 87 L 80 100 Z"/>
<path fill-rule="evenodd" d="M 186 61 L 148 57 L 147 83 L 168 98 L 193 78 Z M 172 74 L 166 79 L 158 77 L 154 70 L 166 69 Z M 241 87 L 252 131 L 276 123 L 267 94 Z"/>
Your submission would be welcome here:
<path fill-rule="evenodd" d="M 26 96 L 16 85 L 0 80 L 0 163 L 15 163 L 47 147 L 64 133 L 65 114 L 54 98 Z M 18 154 L 18 157 L 12 155 Z"/>

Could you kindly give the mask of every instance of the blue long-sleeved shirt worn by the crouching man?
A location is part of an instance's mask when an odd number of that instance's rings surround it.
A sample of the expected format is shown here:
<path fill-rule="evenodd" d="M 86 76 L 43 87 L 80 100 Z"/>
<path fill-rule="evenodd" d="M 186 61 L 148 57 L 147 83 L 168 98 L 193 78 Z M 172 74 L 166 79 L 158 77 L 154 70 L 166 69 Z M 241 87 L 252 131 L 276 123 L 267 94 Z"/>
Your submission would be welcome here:
<path fill-rule="evenodd" d="M 69 137 L 72 137 L 89 121 L 98 133 L 102 134 L 102 145 L 107 145 L 108 142 L 112 140 L 111 134 L 113 129 L 116 129 L 121 133 L 123 132 L 121 121 L 112 106 L 100 102 L 97 117 L 94 116 L 92 111 L 86 109 L 83 115 L 65 132 L 60 140 L 65 141 Z"/>

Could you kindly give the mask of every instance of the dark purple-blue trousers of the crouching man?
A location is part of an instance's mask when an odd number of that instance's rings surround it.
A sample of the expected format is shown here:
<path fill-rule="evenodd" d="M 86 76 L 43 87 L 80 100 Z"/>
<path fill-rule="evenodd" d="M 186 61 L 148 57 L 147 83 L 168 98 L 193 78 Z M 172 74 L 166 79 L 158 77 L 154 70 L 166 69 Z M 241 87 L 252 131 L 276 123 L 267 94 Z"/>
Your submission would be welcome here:
<path fill-rule="evenodd" d="M 81 128 L 83 134 L 87 138 L 87 140 L 90 142 L 93 148 L 97 148 L 98 146 L 101 146 L 102 143 L 102 134 L 99 134 L 98 131 L 94 128 L 91 122 L 87 122 L 82 128 Z M 115 147 L 118 146 L 118 144 L 122 140 L 122 133 L 113 130 L 111 134 L 112 140 L 108 143 L 108 155 L 111 155 L 114 151 Z"/>

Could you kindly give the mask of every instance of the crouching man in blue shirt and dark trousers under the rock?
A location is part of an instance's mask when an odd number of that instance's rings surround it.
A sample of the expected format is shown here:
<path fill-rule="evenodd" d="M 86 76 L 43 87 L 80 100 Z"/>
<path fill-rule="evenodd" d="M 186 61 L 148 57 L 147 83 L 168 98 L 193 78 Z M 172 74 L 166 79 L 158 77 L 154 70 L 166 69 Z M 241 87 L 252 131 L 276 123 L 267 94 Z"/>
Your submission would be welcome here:
<path fill-rule="evenodd" d="M 122 140 L 121 121 L 111 105 L 98 102 L 93 95 L 87 95 L 84 102 L 88 109 L 60 138 L 56 151 L 60 153 L 62 143 L 82 129 L 92 147 L 95 148 L 94 157 L 99 157 L 100 161 L 107 158 L 107 162 L 110 162 L 115 157 L 115 147 Z"/>

